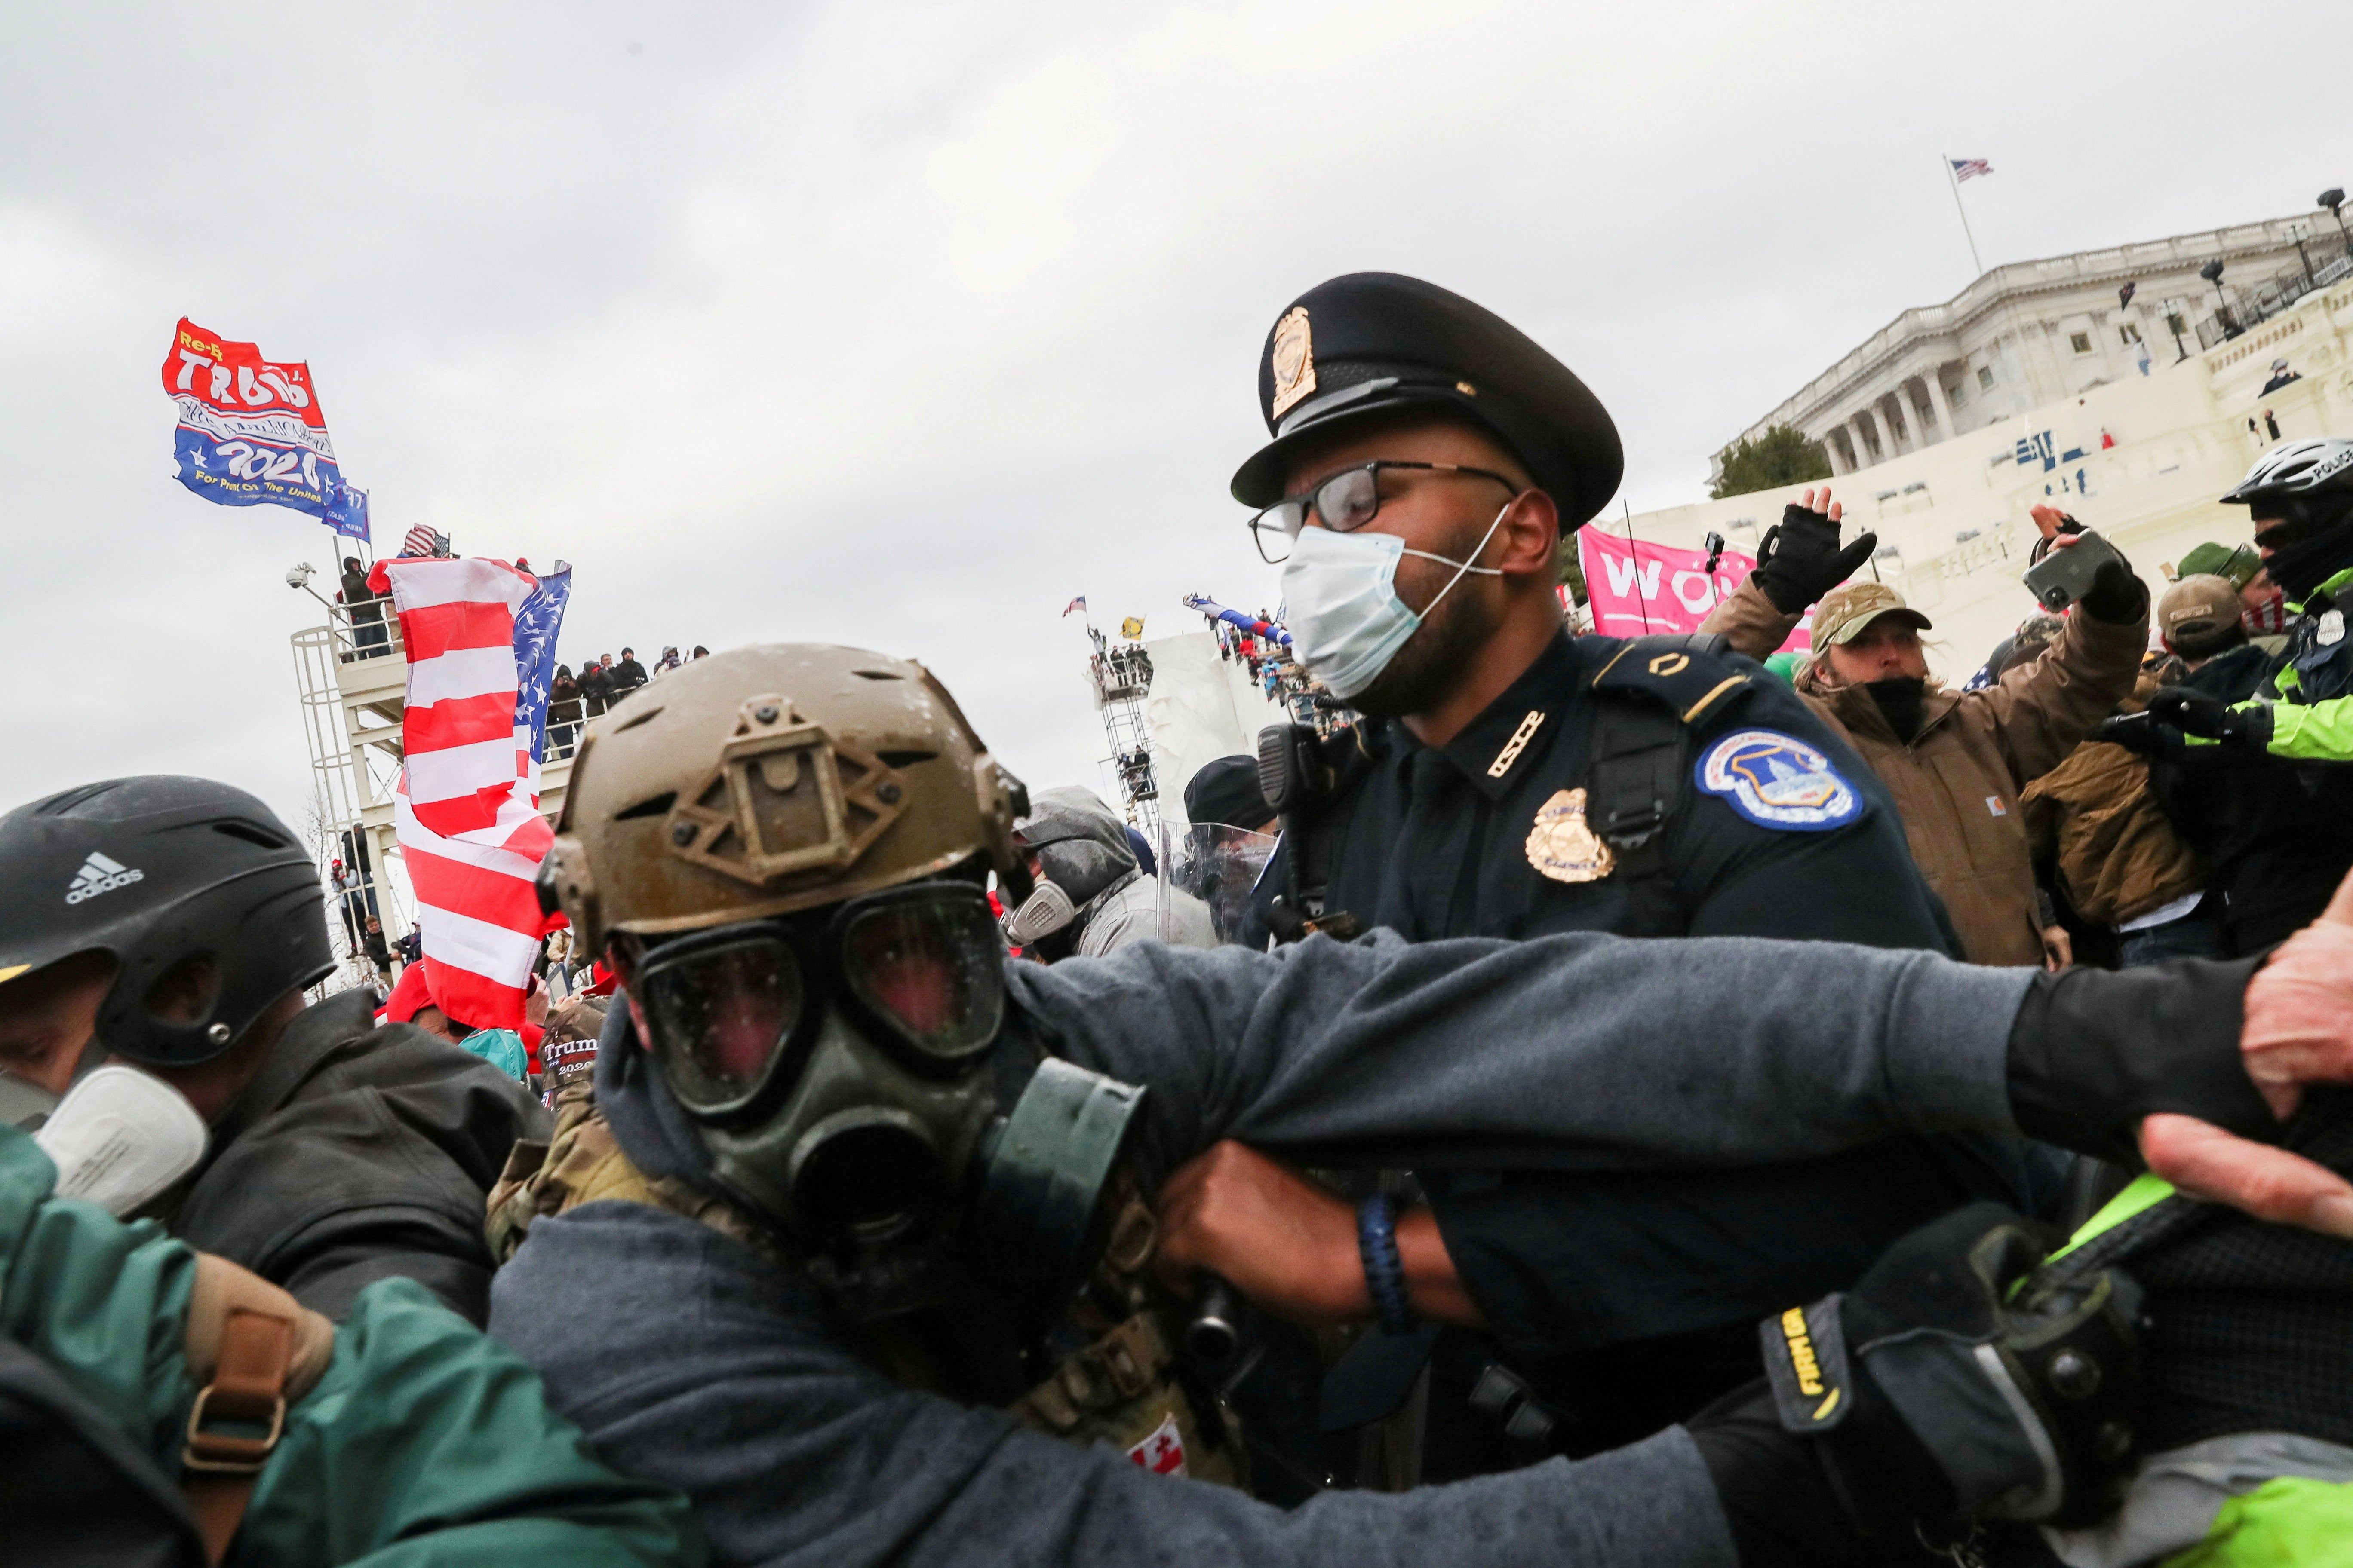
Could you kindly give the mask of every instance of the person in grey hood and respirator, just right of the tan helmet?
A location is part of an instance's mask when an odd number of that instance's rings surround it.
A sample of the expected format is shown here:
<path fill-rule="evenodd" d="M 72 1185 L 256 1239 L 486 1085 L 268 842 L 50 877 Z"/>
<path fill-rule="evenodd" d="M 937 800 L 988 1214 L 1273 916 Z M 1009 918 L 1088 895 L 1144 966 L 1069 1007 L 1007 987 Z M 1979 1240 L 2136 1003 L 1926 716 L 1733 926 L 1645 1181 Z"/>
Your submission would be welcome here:
<path fill-rule="evenodd" d="M 1005 936 L 1038 957 L 1099 959 L 1127 943 L 1214 947 L 1209 905 L 1162 884 L 1136 863 L 1127 827 L 1094 790 L 1040 790 L 1035 811 L 1014 825 L 1035 891 L 1005 917 Z"/>

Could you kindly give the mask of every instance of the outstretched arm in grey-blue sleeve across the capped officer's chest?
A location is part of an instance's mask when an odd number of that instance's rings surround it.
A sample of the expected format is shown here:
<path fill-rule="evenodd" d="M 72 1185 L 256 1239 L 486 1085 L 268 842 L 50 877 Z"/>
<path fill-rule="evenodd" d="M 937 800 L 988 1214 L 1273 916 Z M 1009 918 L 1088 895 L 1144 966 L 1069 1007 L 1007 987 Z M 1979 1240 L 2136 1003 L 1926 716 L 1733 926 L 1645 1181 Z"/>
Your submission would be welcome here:
<path fill-rule="evenodd" d="M 1141 943 L 1014 966 L 1009 985 L 1052 1051 L 1151 1086 L 1146 1182 L 1219 1138 L 1320 1164 L 1605 1171 L 1986 1131 L 2108 1159 L 2139 1143 L 2195 1192 L 2259 1213 L 2285 1192 L 2304 1222 L 2353 1234 L 2353 1187 L 2249 1143 L 2278 1131 L 2297 1084 L 2353 1081 L 2339 947 L 2353 947 L 2348 893 L 2261 976 L 2254 961 L 2038 976 L 1835 943 L 1374 933 L 1271 954 Z M 2195 1171 L 2177 1124 L 2148 1126 L 2167 1114 L 2205 1124 Z"/>

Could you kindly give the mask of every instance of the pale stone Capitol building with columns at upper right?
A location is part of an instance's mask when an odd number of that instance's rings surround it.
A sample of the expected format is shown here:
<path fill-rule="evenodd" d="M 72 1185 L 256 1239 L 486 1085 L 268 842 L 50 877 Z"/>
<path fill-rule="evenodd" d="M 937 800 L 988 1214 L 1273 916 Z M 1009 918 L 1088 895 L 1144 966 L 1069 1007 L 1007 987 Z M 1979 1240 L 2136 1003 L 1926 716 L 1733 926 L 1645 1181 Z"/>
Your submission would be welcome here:
<path fill-rule="evenodd" d="M 2275 360 L 2297 378 L 2266 393 Z M 2026 508 L 2073 512 L 2162 590 L 2188 548 L 2247 538 L 2245 508 L 2214 498 L 2257 454 L 2353 435 L 2353 247 L 2315 212 L 2000 266 L 1906 310 L 1746 435 L 1769 425 L 1828 449 L 1847 536 L 1880 538 L 1866 571 L 1937 623 L 1929 665 L 1958 682 L 2035 609 Z M 1635 512 L 1631 531 L 1755 555 L 1800 489 Z M 1711 595 L 1699 574 L 1675 581 Z"/>

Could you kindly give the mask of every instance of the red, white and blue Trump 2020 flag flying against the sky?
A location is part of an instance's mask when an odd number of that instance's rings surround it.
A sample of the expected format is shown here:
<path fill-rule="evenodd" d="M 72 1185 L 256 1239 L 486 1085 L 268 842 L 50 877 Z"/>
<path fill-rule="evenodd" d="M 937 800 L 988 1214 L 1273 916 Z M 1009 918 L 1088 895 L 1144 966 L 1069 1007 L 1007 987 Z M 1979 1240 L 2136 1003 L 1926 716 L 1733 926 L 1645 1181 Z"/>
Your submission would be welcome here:
<path fill-rule="evenodd" d="M 289 505 L 367 538 L 367 494 L 344 484 L 311 367 L 271 362 L 188 317 L 172 334 L 162 390 L 179 404 L 179 482 L 219 505 Z"/>

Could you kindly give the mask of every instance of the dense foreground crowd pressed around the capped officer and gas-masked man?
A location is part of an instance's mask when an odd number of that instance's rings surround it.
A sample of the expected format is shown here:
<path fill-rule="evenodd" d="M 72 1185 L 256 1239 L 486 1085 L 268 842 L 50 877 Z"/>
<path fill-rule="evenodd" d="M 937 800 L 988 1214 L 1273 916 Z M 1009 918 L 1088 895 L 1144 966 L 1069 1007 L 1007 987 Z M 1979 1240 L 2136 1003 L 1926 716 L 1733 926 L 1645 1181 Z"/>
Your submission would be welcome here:
<path fill-rule="evenodd" d="M 1181 839 L 920 663 L 624 649 L 518 1018 L 461 931 L 313 997 L 362 846 L 231 785 L 0 816 L 12 1561 L 2353 1537 L 2353 442 L 2158 595 L 2038 508 L 1946 689 L 1826 489 L 1569 635 L 1617 430 L 1471 301 L 1337 277 L 1257 386 L 1320 705 Z"/>

